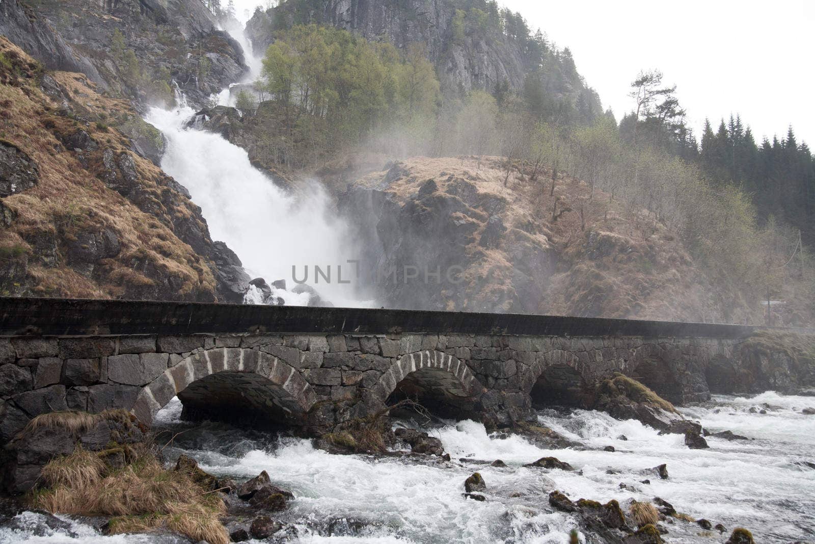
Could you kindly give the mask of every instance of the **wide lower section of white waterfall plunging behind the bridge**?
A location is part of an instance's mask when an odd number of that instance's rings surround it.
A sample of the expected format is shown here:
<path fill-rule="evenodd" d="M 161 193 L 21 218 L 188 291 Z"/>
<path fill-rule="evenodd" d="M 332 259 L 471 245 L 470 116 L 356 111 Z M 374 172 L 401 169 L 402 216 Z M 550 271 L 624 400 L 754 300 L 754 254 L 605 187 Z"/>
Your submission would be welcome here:
<path fill-rule="evenodd" d="M 292 267 L 302 279 L 307 266 L 309 283 L 325 299 L 337 306 L 368 305 L 355 299 L 353 281 L 337 282 L 339 266 L 343 281 L 353 279 L 355 266 L 347 260 L 356 255 L 324 188 L 313 181 L 297 198 L 289 196 L 249 163 L 244 149 L 220 135 L 184 128 L 194 113 L 152 108 L 147 120 L 167 139 L 162 169 L 189 190 L 213 239 L 225 241 L 245 268 L 269 283 L 285 279 L 291 290 Z M 315 281 L 315 265 L 324 271 L 331 267 L 331 283 L 322 276 Z M 294 294 L 283 297 L 287 304 L 297 303 Z"/>

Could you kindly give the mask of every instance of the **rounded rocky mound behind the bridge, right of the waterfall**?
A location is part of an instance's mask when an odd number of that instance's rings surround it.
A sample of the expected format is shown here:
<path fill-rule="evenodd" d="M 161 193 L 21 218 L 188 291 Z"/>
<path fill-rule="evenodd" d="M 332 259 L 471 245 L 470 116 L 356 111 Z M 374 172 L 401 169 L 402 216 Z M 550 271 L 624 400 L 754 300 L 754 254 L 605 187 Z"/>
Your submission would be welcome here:
<path fill-rule="evenodd" d="M 760 322 L 667 228 L 576 179 L 552 191 L 549 175 L 498 157 L 414 157 L 359 179 L 340 208 L 366 248 L 369 295 L 385 307 Z"/>

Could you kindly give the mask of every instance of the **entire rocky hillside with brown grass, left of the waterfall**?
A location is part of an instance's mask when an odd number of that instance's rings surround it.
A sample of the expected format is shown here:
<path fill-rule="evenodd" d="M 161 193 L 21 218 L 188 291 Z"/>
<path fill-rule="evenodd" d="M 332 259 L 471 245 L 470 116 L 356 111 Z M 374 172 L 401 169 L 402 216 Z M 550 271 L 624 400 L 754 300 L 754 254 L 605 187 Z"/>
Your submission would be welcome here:
<path fill-rule="evenodd" d="M 78 73 L 0 38 L 0 294 L 240 301 L 249 278 L 186 189 L 118 126 L 161 135 Z"/>

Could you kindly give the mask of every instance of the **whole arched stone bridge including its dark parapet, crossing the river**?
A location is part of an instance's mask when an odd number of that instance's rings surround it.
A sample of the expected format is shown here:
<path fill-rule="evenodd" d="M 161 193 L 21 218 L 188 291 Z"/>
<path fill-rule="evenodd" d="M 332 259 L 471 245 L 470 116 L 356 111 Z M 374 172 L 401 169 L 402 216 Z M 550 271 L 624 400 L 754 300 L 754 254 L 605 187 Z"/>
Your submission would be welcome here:
<path fill-rule="evenodd" d="M 174 397 L 191 418 L 324 431 L 403 399 L 506 425 L 592 404 L 615 372 L 675 403 L 733 382 L 754 329 L 659 321 L 104 300 L 0 299 L 0 440 L 37 414 Z"/>

